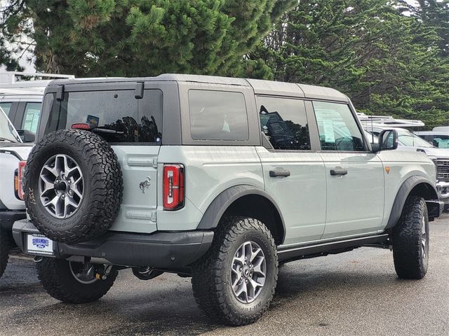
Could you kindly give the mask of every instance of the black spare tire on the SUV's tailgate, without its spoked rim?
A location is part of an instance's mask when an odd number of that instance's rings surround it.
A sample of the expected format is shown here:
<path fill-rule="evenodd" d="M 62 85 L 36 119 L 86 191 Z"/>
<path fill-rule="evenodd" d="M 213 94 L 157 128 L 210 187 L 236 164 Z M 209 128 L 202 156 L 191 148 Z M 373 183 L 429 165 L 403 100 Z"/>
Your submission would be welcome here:
<path fill-rule="evenodd" d="M 83 173 L 83 199 L 69 218 L 52 216 L 39 197 L 39 176 L 53 155 L 69 155 Z M 34 146 L 25 169 L 25 204 L 32 222 L 46 237 L 73 244 L 98 237 L 114 223 L 123 197 L 123 179 L 113 149 L 97 134 L 59 130 Z"/>

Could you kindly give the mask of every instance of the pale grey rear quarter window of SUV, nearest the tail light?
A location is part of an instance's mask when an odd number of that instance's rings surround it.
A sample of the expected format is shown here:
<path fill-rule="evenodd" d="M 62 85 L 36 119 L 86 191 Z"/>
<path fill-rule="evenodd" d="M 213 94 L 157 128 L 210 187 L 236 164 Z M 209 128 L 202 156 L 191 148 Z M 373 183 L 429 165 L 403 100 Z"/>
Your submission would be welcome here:
<path fill-rule="evenodd" d="M 189 90 L 189 112 L 194 140 L 249 138 L 245 97 L 241 92 Z"/>

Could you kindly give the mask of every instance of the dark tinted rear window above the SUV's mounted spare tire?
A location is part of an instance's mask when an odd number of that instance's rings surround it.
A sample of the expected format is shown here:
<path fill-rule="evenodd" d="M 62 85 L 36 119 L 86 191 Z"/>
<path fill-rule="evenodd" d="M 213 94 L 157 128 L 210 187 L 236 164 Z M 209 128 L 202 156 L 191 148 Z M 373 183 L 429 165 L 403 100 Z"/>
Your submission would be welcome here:
<path fill-rule="evenodd" d="M 162 104 L 161 90 L 145 90 L 142 99 L 134 90 L 65 92 L 62 102 L 46 94 L 44 109 L 51 111 L 44 134 L 87 123 L 112 143 L 161 143 Z"/>

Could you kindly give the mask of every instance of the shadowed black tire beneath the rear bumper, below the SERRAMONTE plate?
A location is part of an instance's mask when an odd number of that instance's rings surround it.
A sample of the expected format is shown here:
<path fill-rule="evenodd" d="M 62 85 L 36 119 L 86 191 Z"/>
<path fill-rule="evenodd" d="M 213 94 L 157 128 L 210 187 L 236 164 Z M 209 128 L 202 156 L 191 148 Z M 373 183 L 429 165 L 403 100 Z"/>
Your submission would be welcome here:
<path fill-rule="evenodd" d="M 87 303 L 99 300 L 114 284 L 118 271 L 112 270 L 105 280 L 91 284 L 77 281 L 64 259 L 43 258 L 36 265 L 37 276 L 48 295 L 65 303 Z"/>

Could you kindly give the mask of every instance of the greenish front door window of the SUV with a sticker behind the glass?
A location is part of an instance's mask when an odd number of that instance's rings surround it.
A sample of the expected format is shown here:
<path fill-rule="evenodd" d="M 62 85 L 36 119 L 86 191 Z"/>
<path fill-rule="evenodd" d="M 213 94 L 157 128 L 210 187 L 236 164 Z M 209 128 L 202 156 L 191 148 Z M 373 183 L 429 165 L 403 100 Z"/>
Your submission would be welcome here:
<path fill-rule="evenodd" d="M 364 151 L 363 137 L 347 104 L 313 102 L 323 151 Z"/>

